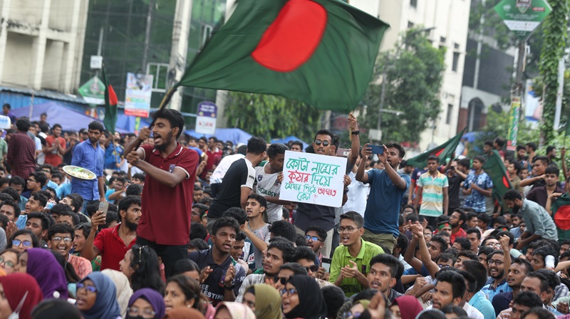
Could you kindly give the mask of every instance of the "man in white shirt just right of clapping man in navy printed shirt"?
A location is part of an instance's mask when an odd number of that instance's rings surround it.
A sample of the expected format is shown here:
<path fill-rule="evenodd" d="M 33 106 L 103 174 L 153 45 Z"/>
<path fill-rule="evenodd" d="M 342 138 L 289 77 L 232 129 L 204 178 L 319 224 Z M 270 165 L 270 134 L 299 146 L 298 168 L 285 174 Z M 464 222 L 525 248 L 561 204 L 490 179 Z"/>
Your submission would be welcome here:
<path fill-rule="evenodd" d="M 241 303 L 247 288 L 257 283 L 274 283 L 284 263 L 291 263 L 294 259 L 295 247 L 291 241 L 282 237 L 271 239 L 263 259 L 263 273 L 248 275 L 239 288 L 236 302 Z M 305 273 L 306 274 L 306 273 Z"/>

